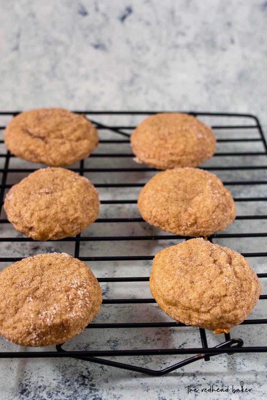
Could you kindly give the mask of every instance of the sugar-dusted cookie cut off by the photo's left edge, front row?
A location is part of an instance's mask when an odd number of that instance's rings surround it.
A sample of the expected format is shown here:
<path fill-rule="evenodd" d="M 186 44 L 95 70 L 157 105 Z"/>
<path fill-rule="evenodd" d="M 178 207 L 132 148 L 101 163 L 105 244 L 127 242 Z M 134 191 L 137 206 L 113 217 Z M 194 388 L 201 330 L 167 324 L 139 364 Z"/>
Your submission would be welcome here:
<path fill-rule="evenodd" d="M 24 258 L 0 273 L 0 334 L 23 346 L 60 344 L 100 310 L 99 283 L 66 253 Z"/>

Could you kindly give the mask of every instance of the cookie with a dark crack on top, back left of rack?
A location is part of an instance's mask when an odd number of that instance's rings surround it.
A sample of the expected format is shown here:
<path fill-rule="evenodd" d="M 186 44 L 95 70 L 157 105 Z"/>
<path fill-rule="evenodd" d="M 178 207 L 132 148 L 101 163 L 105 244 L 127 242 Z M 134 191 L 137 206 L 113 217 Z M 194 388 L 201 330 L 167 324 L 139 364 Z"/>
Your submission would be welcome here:
<path fill-rule="evenodd" d="M 17 157 L 57 167 L 88 157 L 98 145 L 98 135 L 82 114 L 40 108 L 13 118 L 4 132 L 4 142 Z"/>

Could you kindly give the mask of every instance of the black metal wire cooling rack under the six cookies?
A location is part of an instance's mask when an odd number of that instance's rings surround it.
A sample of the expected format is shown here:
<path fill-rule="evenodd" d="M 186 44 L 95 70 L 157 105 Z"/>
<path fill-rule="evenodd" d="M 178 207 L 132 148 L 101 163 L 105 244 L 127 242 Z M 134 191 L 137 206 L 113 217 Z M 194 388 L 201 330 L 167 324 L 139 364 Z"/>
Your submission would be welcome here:
<path fill-rule="evenodd" d="M 114 126 L 114 125 L 107 125 L 102 124 L 95 120 L 97 116 L 147 116 L 150 114 L 155 114 L 155 112 L 147 112 L 147 111 L 136 111 L 136 112 L 128 112 L 128 111 L 118 111 L 118 112 L 102 112 L 102 111 L 76 111 L 79 114 L 86 114 L 88 119 L 90 119 L 93 124 L 96 126 L 98 130 L 109 130 L 111 132 L 116 132 L 120 139 L 118 140 L 100 140 L 100 148 L 101 144 L 122 144 L 122 143 L 129 143 L 129 136 L 128 132 L 125 130 L 133 130 L 135 126 Z M 15 116 L 18 112 L 0 112 L 0 116 Z M 199 117 L 206 117 L 210 116 L 213 118 L 218 118 L 221 120 L 223 117 L 227 118 L 227 120 L 231 121 L 232 118 L 235 120 L 240 118 L 248 118 L 251 121 L 249 125 L 223 125 L 218 124 L 213 126 L 213 130 L 231 130 L 235 129 L 240 132 L 240 137 L 235 138 L 225 138 L 225 139 L 218 139 L 217 142 L 261 142 L 264 151 L 257 151 L 257 152 L 217 152 L 214 156 L 223 156 L 223 157 L 231 157 L 231 156 L 267 156 L 267 144 L 265 138 L 263 136 L 263 132 L 261 129 L 261 125 L 259 124 L 259 120 L 257 117 L 251 114 L 233 114 L 233 113 L 213 113 L 213 112 L 188 112 L 188 114 L 199 116 Z M 91 116 L 96 116 L 91 118 Z M 0 129 L 3 130 L 5 126 L 0 126 Z M 255 129 L 257 130 L 258 136 L 255 137 L 243 137 L 242 132 L 245 132 L 247 129 Z M 121 136 L 124 136 L 124 140 L 121 139 Z M 3 140 L 0 140 L 0 143 L 3 143 Z M 0 185 L 0 211 L 2 209 L 4 195 L 6 189 L 10 188 L 12 185 L 7 184 L 7 178 L 9 172 L 33 172 L 35 169 L 33 168 L 10 168 L 9 162 L 10 158 L 13 157 L 10 152 L 5 152 L 0 154 L 0 158 L 4 158 L 4 168 L 0 169 L 2 172 L 2 182 Z M 124 154 L 124 153 L 93 153 L 90 155 L 92 157 L 133 157 L 133 154 Z M 215 167 L 207 167 L 204 168 L 206 170 L 266 170 L 267 165 L 243 165 L 243 166 L 215 166 Z M 140 171 L 156 171 L 155 168 L 150 167 L 139 167 L 139 168 L 85 168 L 84 167 L 84 160 L 80 161 L 79 168 L 72 168 L 72 170 L 80 173 L 81 175 L 84 172 L 140 172 Z M 225 185 L 259 185 L 259 184 L 267 184 L 267 180 L 243 180 L 243 181 L 230 181 L 230 182 L 223 182 Z M 95 184 L 98 188 L 114 188 L 114 187 L 142 187 L 144 183 L 104 183 L 104 184 Z M 101 199 L 100 199 L 101 200 Z M 260 201 L 266 202 L 267 197 L 237 197 L 234 198 L 235 202 L 251 202 L 251 201 Z M 128 199 L 128 200 L 102 200 L 101 204 L 135 204 L 137 203 L 136 199 Z M 267 215 L 241 215 L 237 216 L 236 219 L 239 220 L 257 220 L 257 219 L 267 219 Z M 102 222 L 143 222 L 142 218 L 98 218 L 96 220 L 98 223 Z M 8 223 L 6 219 L 0 219 L 0 223 Z M 213 234 L 209 236 L 209 240 L 212 241 L 213 238 L 241 238 L 241 237 L 249 237 L 249 238 L 256 238 L 256 237 L 266 237 L 267 233 L 237 233 L 237 234 L 230 234 L 230 233 L 221 233 L 221 234 Z M 107 241 L 107 240 L 162 240 L 162 239 L 189 239 L 189 237 L 182 237 L 177 235 L 158 235 L 158 236 L 80 236 L 77 235 L 76 237 L 72 238 L 65 238 L 62 241 L 68 242 L 75 242 L 75 250 L 74 256 L 79 258 L 82 261 L 135 261 L 135 260 L 153 260 L 153 256 L 105 256 L 105 257 L 94 257 L 94 256 L 86 256 L 80 257 L 80 243 L 82 241 Z M 5 237 L 1 238 L 0 241 L 4 242 L 28 242 L 32 241 L 32 239 L 27 237 Z M 249 252 L 243 253 L 243 256 L 247 258 L 251 257 L 267 257 L 267 252 Z M 0 262 L 16 262 L 21 260 L 21 258 L 15 257 L 0 257 Z M 267 273 L 257 274 L 259 278 L 267 278 Z M 127 277 L 127 278 L 99 278 L 99 282 L 148 282 L 149 277 Z M 260 299 L 267 299 L 267 294 L 263 294 L 260 296 Z M 155 300 L 152 298 L 139 298 L 139 299 L 104 299 L 103 304 L 137 304 L 137 303 L 155 303 Z M 267 319 L 249 319 L 242 322 L 244 325 L 248 324 L 266 324 Z M 155 328 L 155 327 L 181 327 L 185 326 L 181 323 L 176 322 L 145 322 L 145 323 L 105 323 L 105 324 L 95 324 L 92 323 L 87 326 L 90 329 L 105 329 L 105 328 L 121 328 L 121 329 L 130 329 L 130 328 Z M 136 372 L 142 372 L 145 374 L 150 374 L 154 376 L 160 376 L 167 374 L 177 368 L 190 364 L 199 359 L 204 359 L 205 361 L 209 361 L 211 356 L 227 353 L 227 354 L 234 354 L 234 353 L 250 353 L 250 352 L 267 352 L 267 346 L 249 346 L 243 347 L 243 340 L 241 338 L 231 339 L 230 333 L 225 334 L 225 342 L 210 348 L 207 343 L 207 337 L 205 329 L 200 328 L 199 334 L 201 338 L 202 348 L 170 348 L 170 349 L 142 349 L 142 350 L 101 350 L 101 351 L 66 351 L 62 348 L 62 344 L 56 346 L 56 351 L 52 352 L 40 352 L 40 351 L 32 351 L 32 352 L 0 352 L 0 358 L 45 358 L 45 357 L 70 357 L 76 358 L 80 360 L 90 361 L 98 364 L 104 364 L 109 366 L 115 366 L 118 368 L 123 368 L 126 370 L 132 370 Z M 231 348 L 231 350 L 230 350 Z M 152 356 L 152 355 L 164 355 L 164 354 L 194 354 L 192 357 L 187 358 L 181 362 L 177 362 L 169 366 L 168 368 L 164 368 L 162 370 L 151 370 L 149 368 L 143 368 L 135 365 L 125 364 L 121 362 L 116 362 L 114 360 L 106 360 L 100 357 L 108 357 L 108 356 Z"/>

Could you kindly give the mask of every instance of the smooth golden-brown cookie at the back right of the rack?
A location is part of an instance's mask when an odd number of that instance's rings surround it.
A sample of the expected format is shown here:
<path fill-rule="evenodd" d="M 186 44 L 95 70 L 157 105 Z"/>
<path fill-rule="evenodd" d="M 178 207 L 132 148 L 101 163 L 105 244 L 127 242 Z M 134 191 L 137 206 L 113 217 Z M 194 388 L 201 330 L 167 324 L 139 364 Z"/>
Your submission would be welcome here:
<path fill-rule="evenodd" d="M 166 170 L 197 167 L 213 156 L 216 140 L 211 128 L 181 113 L 155 114 L 141 122 L 130 137 L 132 151 L 152 167 Z"/>

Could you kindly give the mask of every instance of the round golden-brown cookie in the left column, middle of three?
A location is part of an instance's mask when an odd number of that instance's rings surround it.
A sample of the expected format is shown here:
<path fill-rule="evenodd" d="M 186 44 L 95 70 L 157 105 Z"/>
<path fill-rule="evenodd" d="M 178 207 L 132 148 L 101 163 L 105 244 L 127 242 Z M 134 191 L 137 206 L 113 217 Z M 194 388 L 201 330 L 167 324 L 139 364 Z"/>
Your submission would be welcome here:
<path fill-rule="evenodd" d="M 74 236 L 91 225 L 99 213 L 98 192 L 76 172 L 42 168 L 6 195 L 4 209 L 15 229 L 34 240 Z"/>

